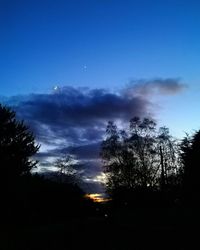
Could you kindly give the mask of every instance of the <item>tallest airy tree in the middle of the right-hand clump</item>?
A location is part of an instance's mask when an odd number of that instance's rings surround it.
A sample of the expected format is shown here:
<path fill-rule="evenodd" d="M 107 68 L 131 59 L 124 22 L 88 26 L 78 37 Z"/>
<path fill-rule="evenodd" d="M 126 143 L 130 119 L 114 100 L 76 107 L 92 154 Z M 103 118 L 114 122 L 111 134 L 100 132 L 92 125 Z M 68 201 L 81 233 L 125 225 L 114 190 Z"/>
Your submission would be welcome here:
<path fill-rule="evenodd" d="M 147 188 L 156 183 L 156 123 L 148 118 L 130 120 L 129 150 L 137 162 L 136 184 Z"/>

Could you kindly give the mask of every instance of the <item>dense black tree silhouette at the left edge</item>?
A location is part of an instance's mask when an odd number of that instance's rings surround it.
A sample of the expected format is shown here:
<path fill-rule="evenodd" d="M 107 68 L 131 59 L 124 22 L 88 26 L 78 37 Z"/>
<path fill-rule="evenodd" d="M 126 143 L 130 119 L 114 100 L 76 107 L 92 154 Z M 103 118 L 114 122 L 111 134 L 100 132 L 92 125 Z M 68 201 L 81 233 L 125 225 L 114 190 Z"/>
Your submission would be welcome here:
<path fill-rule="evenodd" d="M 0 105 L 1 182 L 30 173 L 36 166 L 31 157 L 38 149 L 33 134 L 23 121 L 18 121 L 10 108 Z"/>

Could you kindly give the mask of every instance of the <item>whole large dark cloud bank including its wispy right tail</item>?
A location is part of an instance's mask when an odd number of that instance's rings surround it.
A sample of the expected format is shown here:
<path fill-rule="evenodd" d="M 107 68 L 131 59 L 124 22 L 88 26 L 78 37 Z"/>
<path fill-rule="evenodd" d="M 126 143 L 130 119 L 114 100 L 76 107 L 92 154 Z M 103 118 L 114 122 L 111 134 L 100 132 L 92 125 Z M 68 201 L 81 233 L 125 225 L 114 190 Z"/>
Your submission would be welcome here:
<path fill-rule="evenodd" d="M 124 123 L 134 116 L 149 116 L 155 107 L 152 94 L 177 94 L 185 87 L 177 79 L 138 80 L 119 92 L 67 86 L 3 101 L 16 110 L 42 144 L 37 157 L 43 167 L 70 153 L 84 163 L 85 176 L 95 176 L 101 171 L 100 143 L 109 120 Z"/>

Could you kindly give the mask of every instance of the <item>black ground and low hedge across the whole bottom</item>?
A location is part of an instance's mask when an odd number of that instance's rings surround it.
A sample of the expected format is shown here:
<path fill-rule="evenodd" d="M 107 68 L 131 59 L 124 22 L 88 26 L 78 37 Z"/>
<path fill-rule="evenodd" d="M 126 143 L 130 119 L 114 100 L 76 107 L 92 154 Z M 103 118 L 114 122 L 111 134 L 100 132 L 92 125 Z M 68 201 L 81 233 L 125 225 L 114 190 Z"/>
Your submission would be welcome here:
<path fill-rule="evenodd" d="M 184 203 L 148 192 L 95 204 L 76 186 L 40 177 L 10 190 L 0 196 L 0 250 L 200 249 L 195 197 Z"/>

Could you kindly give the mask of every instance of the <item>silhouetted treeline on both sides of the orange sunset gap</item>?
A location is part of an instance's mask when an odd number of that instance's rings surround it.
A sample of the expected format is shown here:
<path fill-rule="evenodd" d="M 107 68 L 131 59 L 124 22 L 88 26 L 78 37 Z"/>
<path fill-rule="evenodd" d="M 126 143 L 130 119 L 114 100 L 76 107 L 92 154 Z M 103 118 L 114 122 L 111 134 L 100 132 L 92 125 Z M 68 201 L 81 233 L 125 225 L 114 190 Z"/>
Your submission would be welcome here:
<path fill-rule="evenodd" d="M 78 185 L 70 156 L 56 161 L 56 178 L 32 174 L 38 150 L 29 128 L 0 105 L 3 219 L 38 223 L 96 213 Z M 114 205 L 198 207 L 200 131 L 177 141 L 168 128 L 158 128 L 149 118 L 134 117 L 125 130 L 109 122 L 100 155 Z"/>

